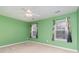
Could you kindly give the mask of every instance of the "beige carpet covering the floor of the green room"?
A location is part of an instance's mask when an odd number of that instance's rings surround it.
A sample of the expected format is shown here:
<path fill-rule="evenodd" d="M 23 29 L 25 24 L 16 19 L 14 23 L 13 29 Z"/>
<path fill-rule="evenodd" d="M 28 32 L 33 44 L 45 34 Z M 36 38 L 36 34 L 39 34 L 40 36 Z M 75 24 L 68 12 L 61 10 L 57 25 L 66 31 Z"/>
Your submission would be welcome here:
<path fill-rule="evenodd" d="M 21 43 L 0 48 L 0 53 L 74 53 L 38 43 Z"/>

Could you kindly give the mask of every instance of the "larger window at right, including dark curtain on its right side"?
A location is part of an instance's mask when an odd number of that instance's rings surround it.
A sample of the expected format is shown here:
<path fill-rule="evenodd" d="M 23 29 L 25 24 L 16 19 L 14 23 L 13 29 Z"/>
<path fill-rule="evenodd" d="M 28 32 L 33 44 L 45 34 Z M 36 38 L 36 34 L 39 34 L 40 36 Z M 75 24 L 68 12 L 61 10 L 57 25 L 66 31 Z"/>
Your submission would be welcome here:
<path fill-rule="evenodd" d="M 54 40 L 72 42 L 69 18 L 55 20 L 54 22 Z"/>

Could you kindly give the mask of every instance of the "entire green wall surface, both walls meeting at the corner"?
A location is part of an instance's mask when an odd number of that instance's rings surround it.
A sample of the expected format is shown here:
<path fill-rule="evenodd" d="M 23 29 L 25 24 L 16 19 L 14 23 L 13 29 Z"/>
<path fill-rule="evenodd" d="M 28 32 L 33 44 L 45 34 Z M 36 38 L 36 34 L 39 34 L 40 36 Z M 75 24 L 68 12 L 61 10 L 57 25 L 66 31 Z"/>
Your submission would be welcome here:
<path fill-rule="evenodd" d="M 62 16 L 50 17 L 47 19 L 27 23 L 0 15 L 0 46 L 26 41 L 30 36 L 30 25 L 32 23 L 37 23 L 38 39 L 30 39 L 30 40 L 61 46 L 64 48 L 79 50 L 78 46 L 79 40 L 77 40 L 79 34 L 79 32 L 77 33 L 78 30 L 77 16 L 79 16 L 79 11 L 65 14 Z M 71 20 L 71 31 L 72 31 L 72 43 L 52 40 L 53 20 L 62 19 L 65 17 L 71 18 L 70 20 Z"/>

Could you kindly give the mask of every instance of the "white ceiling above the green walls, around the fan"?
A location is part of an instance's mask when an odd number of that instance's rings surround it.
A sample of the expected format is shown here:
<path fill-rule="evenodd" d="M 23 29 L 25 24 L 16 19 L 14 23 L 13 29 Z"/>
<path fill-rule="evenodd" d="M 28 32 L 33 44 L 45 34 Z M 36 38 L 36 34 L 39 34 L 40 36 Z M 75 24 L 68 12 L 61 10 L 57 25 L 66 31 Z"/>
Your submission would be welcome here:
<path fill-rule="evenodd" d="M 35 21 L 50 16 L 59 16 L 77 10 L 77 6 L 0 6 L 0 14 L 18 20 L 26 22 Z M 26 11 L 24 9 L 30 9 L 33 13 L 40 16 L 33 16 L 28 18 L 25 16 Z M 58 10 L 60 10 L 59 13 Z"/>

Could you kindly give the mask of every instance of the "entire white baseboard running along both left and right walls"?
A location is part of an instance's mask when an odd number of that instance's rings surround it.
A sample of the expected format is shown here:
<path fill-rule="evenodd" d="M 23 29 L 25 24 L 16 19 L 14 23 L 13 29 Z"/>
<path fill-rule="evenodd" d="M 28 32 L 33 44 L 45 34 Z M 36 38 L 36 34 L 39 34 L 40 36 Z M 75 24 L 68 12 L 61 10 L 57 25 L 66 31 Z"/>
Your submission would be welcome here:
<path fill-rule="evenodd" d="M 33 43 L 38 43 L 38 44 L 42 44 L 42 45 L 47 45 L 47 46 L 51 46 L 51 47 L 55 47 L 55 48 L 61 48 L 61 49 L 64 49 L 64 50 L 69 50 L 69 51 L 78 52 L 77 50 L 74 50 L 74 49 L 64 48 L 64 47 L 55 46 L 55 45 L 46 44 L 46 43 L 40 43 L 40 42 L 37 42 L 37 41 L 23 41 L 23 42 L 18 42 L 18 43 L 3 45 L 3 46 L 0 46 L 0 48 L 8 47 L 8 46 L 16 45 L 16 44 L 22 44 L 22 43 L 25 43 L 25 42 L 31 42 L 31 43 L 33 42 Z"/>

